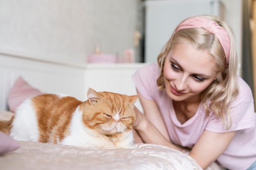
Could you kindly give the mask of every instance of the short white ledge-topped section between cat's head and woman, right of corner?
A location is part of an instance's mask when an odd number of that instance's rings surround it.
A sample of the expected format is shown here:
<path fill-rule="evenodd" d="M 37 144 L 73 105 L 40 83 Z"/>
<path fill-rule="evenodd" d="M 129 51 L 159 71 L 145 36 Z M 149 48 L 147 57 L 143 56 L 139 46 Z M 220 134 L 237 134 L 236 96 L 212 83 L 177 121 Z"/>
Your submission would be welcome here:
<path fill-rule="evenodd" d="M 95 91 L 110 91 L 126 95 L 137 95 L 132 75 L 144 63 L 128 64 L 87 64 L 85 68 L 85 89 Z M 139 100 L 135 106 L 142 111 Z"/>

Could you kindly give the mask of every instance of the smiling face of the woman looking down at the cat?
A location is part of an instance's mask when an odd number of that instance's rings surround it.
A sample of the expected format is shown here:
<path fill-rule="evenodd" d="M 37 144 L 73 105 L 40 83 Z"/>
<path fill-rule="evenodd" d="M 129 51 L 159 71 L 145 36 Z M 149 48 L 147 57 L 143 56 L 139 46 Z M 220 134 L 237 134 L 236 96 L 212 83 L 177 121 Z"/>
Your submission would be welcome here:
<path fill-rule="evenodd" d="M 174 101 L 200 100 L 200 94 L 216 78 L 215 62 L 207 50 L 180 43 L 164 63 L 166 93 Z"/>

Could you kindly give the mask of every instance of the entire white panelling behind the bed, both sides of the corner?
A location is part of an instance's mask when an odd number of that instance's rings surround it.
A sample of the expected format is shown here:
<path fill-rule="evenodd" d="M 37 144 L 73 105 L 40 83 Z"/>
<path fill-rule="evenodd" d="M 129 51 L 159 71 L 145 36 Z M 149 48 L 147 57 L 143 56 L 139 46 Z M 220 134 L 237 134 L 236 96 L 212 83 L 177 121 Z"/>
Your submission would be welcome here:
<path fill-rule="evenodd" d="M 0 110 L 8 110 L 7 98 L 13 84 L 22 76 L 43 93 L 61 93 L 87 100 L 88 88 L 136 95 L 132 74 L 146 63 L 72 64 L 1 52 L 0 49 Z M 142 111 L 139 100 L 135 106 Z"/>

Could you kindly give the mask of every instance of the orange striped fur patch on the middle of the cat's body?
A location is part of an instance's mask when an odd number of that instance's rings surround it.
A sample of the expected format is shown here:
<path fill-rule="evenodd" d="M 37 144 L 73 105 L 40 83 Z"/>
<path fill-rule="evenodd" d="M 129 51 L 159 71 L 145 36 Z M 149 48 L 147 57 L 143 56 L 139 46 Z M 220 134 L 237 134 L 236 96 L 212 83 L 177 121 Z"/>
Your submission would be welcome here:
<path fill-rule="evenodd" d="M 72 115 L 82 103 L 74 97 L 58 97 L 54 94 L 40 95 L 31 101 L 38 119 L 38 141 L 55 144 L 58 143 L 56 139 L 62 141 L 65 135 L 69 134 Z"/>

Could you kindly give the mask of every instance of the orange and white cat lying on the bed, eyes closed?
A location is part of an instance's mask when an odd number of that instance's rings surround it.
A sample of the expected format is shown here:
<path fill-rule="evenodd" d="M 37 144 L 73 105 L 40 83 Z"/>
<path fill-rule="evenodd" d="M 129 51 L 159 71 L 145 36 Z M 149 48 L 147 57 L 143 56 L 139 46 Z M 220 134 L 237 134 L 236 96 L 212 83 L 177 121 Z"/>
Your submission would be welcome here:
<path fill-rule="evenodd" d="M 10 136 L 90 148 L 133 148 L 134 102 L 138 95 L 87 93 L 88 100 L 44 94 L 25 100 L 13 117 Z"/>

